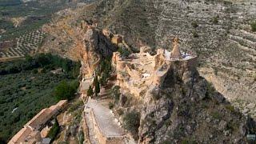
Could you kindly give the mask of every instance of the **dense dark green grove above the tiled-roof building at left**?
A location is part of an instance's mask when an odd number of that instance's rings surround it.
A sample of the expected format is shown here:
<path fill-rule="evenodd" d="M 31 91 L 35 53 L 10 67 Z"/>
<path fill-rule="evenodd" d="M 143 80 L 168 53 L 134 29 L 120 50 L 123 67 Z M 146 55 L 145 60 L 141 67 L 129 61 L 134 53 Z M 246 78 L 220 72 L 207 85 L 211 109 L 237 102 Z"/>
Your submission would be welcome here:
<path fill-rule="evenodd" d="M 52 54 L 0 62 L 0 139 L 7 142 L 40 110 L 58 102 L 54 90 L 67 83 L 73 98 L 80 63 Z"/>

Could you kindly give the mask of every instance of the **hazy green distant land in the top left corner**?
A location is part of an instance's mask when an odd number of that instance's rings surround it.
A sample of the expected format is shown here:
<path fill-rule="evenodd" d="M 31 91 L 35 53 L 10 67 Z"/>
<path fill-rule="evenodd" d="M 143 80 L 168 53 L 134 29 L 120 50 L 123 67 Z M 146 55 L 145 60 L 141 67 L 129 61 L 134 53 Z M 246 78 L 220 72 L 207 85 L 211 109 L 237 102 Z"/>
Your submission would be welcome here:
<path fill-rule="evenodd" d="M 52 14 L 66 8 L 75 8 L 78 2 L 86 1 L 0 0 L 0 30 L 5 30 L 5 33 L 1 34 L 0 41 L 18 38 L 22 34 L 38 30 L 42 25 L 50 22 Z M 17 22 L 13 19 L 23 19 L 24 21 L 17 26 Z"/>

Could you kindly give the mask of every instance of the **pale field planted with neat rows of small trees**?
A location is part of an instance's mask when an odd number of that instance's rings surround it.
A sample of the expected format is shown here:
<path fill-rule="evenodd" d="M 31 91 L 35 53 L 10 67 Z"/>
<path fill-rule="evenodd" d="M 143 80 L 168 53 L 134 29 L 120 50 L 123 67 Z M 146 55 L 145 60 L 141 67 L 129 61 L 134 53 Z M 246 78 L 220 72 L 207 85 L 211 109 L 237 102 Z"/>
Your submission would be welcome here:
<path fill-rule="evenodd" d="M 16 38 L 16 46 L 0 50 L 0 61 L 12 58 L 20 58 L 26 54 L 34 54 L 42 43 L 45 33 L 40 30 L 25 34 Z"/>

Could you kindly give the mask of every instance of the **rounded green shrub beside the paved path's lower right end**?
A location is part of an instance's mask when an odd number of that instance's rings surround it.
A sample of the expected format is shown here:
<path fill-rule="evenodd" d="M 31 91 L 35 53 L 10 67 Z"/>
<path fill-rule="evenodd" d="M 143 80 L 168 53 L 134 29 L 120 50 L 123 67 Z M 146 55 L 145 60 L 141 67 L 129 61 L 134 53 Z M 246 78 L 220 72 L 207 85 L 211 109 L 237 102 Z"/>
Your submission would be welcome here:
<path fill-rule="evenodd" d="M 140 114 L 136 111 L 127 113 L 124 120 L 124 127 L 129 130 L 131 134 L 138 134 L 138 127 L 140 125 Z"/>

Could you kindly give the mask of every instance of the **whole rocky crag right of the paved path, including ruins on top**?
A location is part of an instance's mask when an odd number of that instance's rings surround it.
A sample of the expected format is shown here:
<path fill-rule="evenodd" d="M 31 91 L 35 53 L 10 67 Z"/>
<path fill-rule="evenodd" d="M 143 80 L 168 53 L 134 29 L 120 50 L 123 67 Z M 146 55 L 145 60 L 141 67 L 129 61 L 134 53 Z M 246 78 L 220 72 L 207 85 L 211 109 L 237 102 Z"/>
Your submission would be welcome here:
<path fill-rule="evenodd" d="M 114 53 L 112 60 L 122 90 L 116 109 L 141 114 L 138 143 L 246 143 L 246 134 L 254 134 L 252 118 L 199 76 L 196 56 L 144 51 L 128 58 Z"/>

